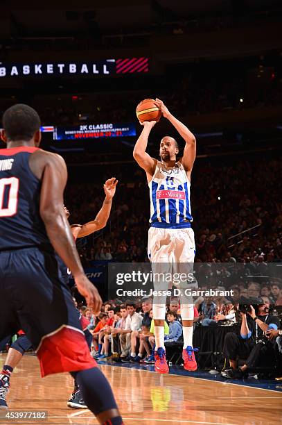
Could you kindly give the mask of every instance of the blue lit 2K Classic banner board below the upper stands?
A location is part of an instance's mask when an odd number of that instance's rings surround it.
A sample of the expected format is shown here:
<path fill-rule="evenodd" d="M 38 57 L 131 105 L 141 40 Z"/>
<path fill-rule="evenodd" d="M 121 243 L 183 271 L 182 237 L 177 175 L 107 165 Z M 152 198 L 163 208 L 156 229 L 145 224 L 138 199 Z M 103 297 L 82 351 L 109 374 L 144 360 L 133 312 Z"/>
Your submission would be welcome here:
<path fill-rule="evenodd" d="M 80 126 L 53 127 L 53 140 L 87 140 L 136 136 L 134 123 L 80 124 Z"/>

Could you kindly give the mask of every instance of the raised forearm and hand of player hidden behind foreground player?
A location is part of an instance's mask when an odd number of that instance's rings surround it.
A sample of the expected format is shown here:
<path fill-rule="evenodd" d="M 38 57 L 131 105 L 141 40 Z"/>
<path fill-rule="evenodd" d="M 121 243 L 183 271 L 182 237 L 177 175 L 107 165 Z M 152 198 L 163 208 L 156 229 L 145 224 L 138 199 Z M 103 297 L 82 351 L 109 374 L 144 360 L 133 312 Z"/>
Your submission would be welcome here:
<path fill-rule="evenodd" d="M 94 233 L 100 230 L 100 228 L 106 226 L 112 208 L 112 199 L 114 197 L 114 194 L 116 193 L 117 184 L 118 180 L 116 180 L 115 177 L 109 178 L 109 180 L 105 182 L 105 200 L 103 202 L 103 206 L 94 220 L 80 226 L 77 238 L 83 238 L 84 236 L 91 235 L 91 233 Z"/>

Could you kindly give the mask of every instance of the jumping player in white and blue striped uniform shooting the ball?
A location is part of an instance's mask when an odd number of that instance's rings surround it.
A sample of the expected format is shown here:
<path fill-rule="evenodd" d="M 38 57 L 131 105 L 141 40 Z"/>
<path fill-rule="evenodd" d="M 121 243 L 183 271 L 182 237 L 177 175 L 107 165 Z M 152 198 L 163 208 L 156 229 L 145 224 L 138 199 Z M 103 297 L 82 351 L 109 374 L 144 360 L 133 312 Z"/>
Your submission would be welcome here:
<path fill-rule="evenodd" d="M 183 270 L 191 271 L 195 257 L 194 232 L 191 228 L 190 181 L 196 156 L 195 136 L 175 118 L 164 103 L 156 99 L 162 115 L 173 124 L 185 141 L 182 158 L 177 160 L 179 148 L 177 141 L 164 136 L 159 145 L 161 160 L 152 158 L 147 152 L 150 132 L 156 121 L 141 122 L 143 131 L 137 140 L 133 156 L 146 172 L 150 189 L 150 229 L 148 233 L 148 256 L 152 268 L 164 272 L 171 263 L 175 267 L 186 263 Z M 190 265 L 190 266 L 189 266 Z M 179 270 L 178 270 L 179 272 Z M 164 290 L 164 282 L 154 282 L 155 290 Z M 195 371 L 197 363 L 193 349 L 193 301 L 180 297 L 183 324 L 184 346 L 182 357 L 184 369 Z M 154 297 L 153 316 L 155 322 L 155 371 L 161 374 L 169 372 L 164 349 L 164 319 L 166 316 L 166 297 Z"/>

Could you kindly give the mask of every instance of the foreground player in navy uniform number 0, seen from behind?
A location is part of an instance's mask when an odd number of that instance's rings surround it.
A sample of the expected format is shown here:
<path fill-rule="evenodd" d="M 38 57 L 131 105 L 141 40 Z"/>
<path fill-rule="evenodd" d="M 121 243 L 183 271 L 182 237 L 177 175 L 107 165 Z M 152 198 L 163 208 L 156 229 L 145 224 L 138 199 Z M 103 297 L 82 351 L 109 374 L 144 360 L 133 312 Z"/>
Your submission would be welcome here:
<path fill-rule="evenodd" d="M 102 300 L 82 269 L 64 213 L 64 160 L 38 149 L 40 119 L 18 104 L 3 115 L 0 150 L 0 340 L 22 328 L 42 376 L 70 372 L 100 424 L 122 424 L 114 395 L 91 358 L 55 251 L 94 313 Z M 54 251 L 55 249 L 55 251 Z"/>

